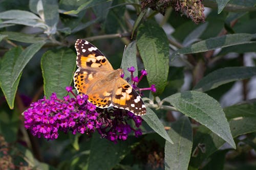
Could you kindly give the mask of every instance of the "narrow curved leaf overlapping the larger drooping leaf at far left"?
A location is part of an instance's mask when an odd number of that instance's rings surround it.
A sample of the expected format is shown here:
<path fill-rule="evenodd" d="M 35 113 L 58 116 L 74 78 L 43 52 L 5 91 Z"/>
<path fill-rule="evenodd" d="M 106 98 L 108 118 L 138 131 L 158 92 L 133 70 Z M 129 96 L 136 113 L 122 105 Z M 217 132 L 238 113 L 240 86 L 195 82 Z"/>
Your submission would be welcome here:
<path fill-rule="evenodd" d="M 20 72 L 24 69 L 24 67 L 27 65 L 29 60 L 40 50 L 42 45 L 44 45 L 45 42 L 37 42 L 34 44 L 31 44 L 28 46 L 17 58 L 15 65 L 13 67 L 13 82 L 11 86 L 14 85 L 14 82 L 18 79 Z"/>

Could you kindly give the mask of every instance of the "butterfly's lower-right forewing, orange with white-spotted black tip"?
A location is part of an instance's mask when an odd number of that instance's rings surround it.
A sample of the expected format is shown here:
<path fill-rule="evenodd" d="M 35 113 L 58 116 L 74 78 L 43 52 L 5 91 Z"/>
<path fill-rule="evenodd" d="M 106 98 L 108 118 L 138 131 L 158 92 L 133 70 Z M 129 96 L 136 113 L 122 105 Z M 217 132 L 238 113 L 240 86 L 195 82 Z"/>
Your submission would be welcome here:
<path fill-rule="evenodd" d="M 135 115 L 146 114 L 146 107 L 140 95 L 122 78 L 115 83 L 112 104 L 116 108 L 129 110 Z"/>

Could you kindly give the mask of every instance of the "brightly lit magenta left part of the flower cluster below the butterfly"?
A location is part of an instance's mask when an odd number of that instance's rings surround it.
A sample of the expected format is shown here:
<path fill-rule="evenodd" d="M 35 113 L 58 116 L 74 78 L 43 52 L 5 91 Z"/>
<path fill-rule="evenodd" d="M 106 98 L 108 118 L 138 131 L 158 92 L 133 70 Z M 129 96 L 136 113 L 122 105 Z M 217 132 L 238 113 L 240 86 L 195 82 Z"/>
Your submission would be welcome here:
<path fill-rule="evenodd" d="M 34 102 L 24 112 L 25 128 L 30 129 L 34 136 L 42 135 L 46 139 L 56 139 L 58 130 L 72 130 L 73 134 L 94 132 L 94 125 L 99 126 L 98 113 L 96 107 L 87 100 L 85 94 L 77 95 L 76 98 L 67 95 L 60 100 L 53 93 L 50 99 Z"/>

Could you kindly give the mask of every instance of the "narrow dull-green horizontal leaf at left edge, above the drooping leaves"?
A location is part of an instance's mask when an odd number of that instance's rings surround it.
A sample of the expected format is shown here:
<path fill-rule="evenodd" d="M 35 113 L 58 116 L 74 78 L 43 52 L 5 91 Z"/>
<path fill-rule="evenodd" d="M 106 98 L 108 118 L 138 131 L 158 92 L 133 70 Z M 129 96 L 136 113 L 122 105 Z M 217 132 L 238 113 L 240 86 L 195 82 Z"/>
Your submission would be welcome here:
<path fill-rule="evenodd" d="M 1 34 L 8 35 L 8 39 L 10 40 L 26 43 L 36 43 L 45 40 L 44 37 L 36 37 L 35 34 L 24 34 L 19 32 L 1 32 Z"/>

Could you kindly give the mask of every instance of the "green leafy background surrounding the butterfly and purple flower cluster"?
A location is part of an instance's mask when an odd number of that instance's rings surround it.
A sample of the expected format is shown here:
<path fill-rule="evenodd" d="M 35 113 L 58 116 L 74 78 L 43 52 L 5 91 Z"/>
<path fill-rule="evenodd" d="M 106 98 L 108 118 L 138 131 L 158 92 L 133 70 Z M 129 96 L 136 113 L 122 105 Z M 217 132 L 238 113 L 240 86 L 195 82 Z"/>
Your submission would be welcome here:
<path fill-rule="evenodd" d="M 163 16 L 140 3 L 0 1 L 0 169 L 256 169 L 256 1 L 205 0 L 198 25 L 172 7 Z M 25 130 L 31 102 L 73 85 L 78 38 L 115 69 L 147 70 L 139 86 L 157 92 L 144 94 L 141 137 L 47 141 Z M 237 82 L 241 95 L 222 107 Z"/>

